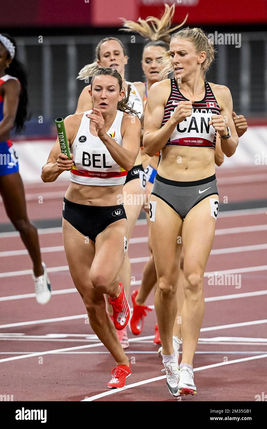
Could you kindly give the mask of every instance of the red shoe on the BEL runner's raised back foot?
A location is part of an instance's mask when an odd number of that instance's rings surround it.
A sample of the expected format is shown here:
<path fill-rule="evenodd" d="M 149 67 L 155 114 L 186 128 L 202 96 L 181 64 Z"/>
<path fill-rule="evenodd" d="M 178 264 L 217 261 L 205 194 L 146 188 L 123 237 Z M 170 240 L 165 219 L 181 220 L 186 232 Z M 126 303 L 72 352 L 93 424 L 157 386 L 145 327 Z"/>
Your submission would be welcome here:
<path fill-rule="evenodd" d="M 118 331 L 126 328 L 131 318 L 131 308 L 125 296 L 123 284 L 120 283 L 120 295 L 112 299 L 108 297 L 108 303 L 113 308 L 113 323 Z"/>

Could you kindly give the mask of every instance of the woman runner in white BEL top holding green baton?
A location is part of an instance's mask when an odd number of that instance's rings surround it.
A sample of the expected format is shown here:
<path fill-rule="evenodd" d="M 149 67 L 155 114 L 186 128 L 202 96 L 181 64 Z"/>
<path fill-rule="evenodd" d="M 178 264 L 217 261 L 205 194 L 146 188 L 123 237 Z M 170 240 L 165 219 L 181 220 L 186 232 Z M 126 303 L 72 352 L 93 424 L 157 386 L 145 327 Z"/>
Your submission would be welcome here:
<path fill-rule="evenodd" d="M 130 375 L 116 329 L 127 326 L 130 310 L 118 273 L 126 253 L 126 215 L 118 196 L 140 146 L 141 124 L 125 112 L 125 92 L 116 70 L 100 68 L 93 76 L 93 112 L 65 119 L 72 160 L 60 153 L 57 139 L 42 169 L 42 180 L 55 181 L 71 169 L 63 203 L 63 242 L 75 287 L 90 325 L 110 351 L 117 367 L 108 387 L 123 387 Z M 117 311 L 114 324 L 104 294 Z M 118 302 L 118 300 L 120 302 Z"/>

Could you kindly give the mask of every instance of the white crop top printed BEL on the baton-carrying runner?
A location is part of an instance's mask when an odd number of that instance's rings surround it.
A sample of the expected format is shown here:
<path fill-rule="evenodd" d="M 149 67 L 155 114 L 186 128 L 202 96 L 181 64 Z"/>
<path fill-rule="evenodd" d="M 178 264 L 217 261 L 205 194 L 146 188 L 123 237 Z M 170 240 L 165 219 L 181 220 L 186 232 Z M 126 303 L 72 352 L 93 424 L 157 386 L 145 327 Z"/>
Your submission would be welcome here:
<path fill-rule="evenodd" d="M 114 186 L 124 184 L 127 171 L 120 167 L 111 157 L 108 149 L 99 139 L 90 133 L 90 119 L 86 115 L 93 111 L 84 112 L 81 124 L 70 148 L 75 165 L 70 172 L 70 180 L 82 185 Z M 122 146 L 120 133 L 123 112 L 117 110 L 107 134 Z"/>

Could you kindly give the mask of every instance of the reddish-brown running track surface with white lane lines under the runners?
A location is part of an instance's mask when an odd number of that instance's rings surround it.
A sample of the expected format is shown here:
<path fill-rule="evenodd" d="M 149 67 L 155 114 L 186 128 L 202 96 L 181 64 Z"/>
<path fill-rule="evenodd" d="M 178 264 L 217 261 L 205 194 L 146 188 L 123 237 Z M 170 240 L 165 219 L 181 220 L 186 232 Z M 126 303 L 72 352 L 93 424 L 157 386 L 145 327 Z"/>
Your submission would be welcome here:
<path fill-rule="evenodd" d="M 221 202 L 224 196 L 228 196 L 228 202 L 264 198 L 266 196 L 266 174 L 266 167 L 238 169 L 234 172 L 228 169 L 219 170 L 217 178 Z M 240 179 L 240 176 L 246 176 L 247 179 Z M 226 184 L 225 182 L 230 177 L 238 183 Z M 48 199 L 45 197 L 45 193 L 61 191 L 63 195 L 66 186 L 67 184 L 64 183 L 27 187 L 28 196 L 30 194 L 44 196 L 42 204 L 38 203 L 38 198 L 30 196 L 28 201 L 30 218 L 51 218 L 51 213 L 55 218 L 59 218 L 62 210 L 62 198 L 56 194 L 54 196 L 58 196 L 57 198 Z M 3 214 L 2 203 L 0 204 L 0 218 L 3 222 L 8 222 Z M 257 227 L 257 231 L 249 232 L 242 229 L 243 227 L 256 227 L 258 225 L 261 227 Z M 241 287 L 234 285 L 210 286 L 208 285 L 208 278 L 204 278 L 204 291 L 207 299 L 206 312 L 194 360 L 195 369 L 199 368 L 195 372 L 198 394 L 194 397 L 183 398 L 183 401 L 254 401 L 255 395 L 261 395 L 261 392 L 267 391 L 267 320 L 265 320 L 267 246 L 264 248 L 267 243 L 266 225 L 267 217 L 264 209 L 259 209 L 256 213 L 252 211 L 250 214 L 242 215 L 235 212 L 231 213 L 231 216 L 225 216 L 221 213 L 221 217 L 217 220 L 213 251 L 236 247 L 241 247 L 244 251 L 235 249 L 234 252 L 228 250 L 222 253 L 221 250 L 219 254 L 211 254 L 206 272 L 224 270 L 231 274 L 231 270 L 236 269 L 236 274 L 241 275 Z M 233 231 L 230 230 L 231 228 L 239 228 L 239 230 Z M 30 275 L 20 273 L 20 271 L 31 268 L 30 258 L 27 254 L 4 254 L 3 252 L 6 251 L 24 249 L 18 236 L 6 235 L 0 234 L 0 295 L 10 298 L 0 300 L 0 377 L 2 385 L 0 393 L 13 394 L 14 401 L 80 401 L 86 396 L 92 397 L 104 393 L 107 391 L 106 383 L 110 378 L 114 361 L 106 353 L 105 347 L 99 345 L 99 341 L 96 341 L 92 336 L 86 338 L 87 335 L 92 335 L 93 331 L 85 323 L 83 302 L 77 292 L 66 293 L 63 291 L 74 288 L 69 272 L 64 268 L 50 272 L 49 278 L 53 290 L 62 290 L 64 293 L 54 294 L 47 305 L 38 305 L 34 296 L 23 298 L 23 295 L 33 293 L 33 282 Z M 132 237 L 146 236 L 147 226 L 138 224 Z M 40 234 L 39 239 L 42 248 L 63 245 L 60 232 Z M 244 246 L 256 247 L 244 248 Z M 130 258 L 133 258 L 132 275 L 138 282 L 141 280 L 145 262 L 136 262 L 134 258 L 149 256 L 147 243 L 130 244 L 129 255 Z M 48 268 L 67 265 L 62 250 L 43 253 L 43 260 Z M 256 271 L 251 267 L 261 268 Z M 6 274 L 3 275 L 3 273 Z M 262 294 L 238 296 L 256 291 L 261 291 Z M 225 295 L 228 296 L 225 297 L 226 299 L 216 299 L 216 297 Z M 233 299 L 233 295 L 238 297 Z M 19 296 L 18 299 L 14 299 L 15 296 Z M 153 305 L 152 294 L 150 294 L 148 304 Z M 80 317 L 69 319 L 75 315 L 80 315 Z M 66 320 L 53 320 L 60 317 L 65 317 Z M 47 321 L 44 322 L 44 320 Z M 33 321 L 33 323 L 25 325 L 24 323 L 28 321 Z M 253 321 L 261 322 L 250 323 Z M 128 386 L 150 378 L 162 377 L 160 372 L 162 363 L 156 354 L 157 347 L 153 344 L 153 325 L 155 322 L 155 312 L 152 311 L 145 320 L 144 331 L 141 336 L 133 338 L 129 334 L 129 337 L 135 341 L 130 343 L 127 350 L 132 361 L 132 376 L 127 380 Z M 249 322 L 247 326 L 244 325 L 246 322 Z M 22 323 L 22 325 L 5 326 L 14 323 Z M 235 323 L 240 323 L 240 326 L 223 326 Z M 213 329 L 208 329 L 211 327 Z M 80 336 L 75 336 L 75 334 Z M 13 338 L 10 338 L 11 336 Z M 226 338 L 222 339 L 222 337 Z M 211 338 L 213 338 L 212 341 L 204 341 Z M 44 354 L 48 350 L 66 349 L 68 347 L 78 348 L 62 350 L 60 353 L 54 351 Z M 36 356 L 2 361 L 13 356 L 23 356 L 35 352 Z M 255 358 L 261 356 L 261 353 L 266 353 L 266 356 L 225 365 L 225 361 L 246 359 L 250 356 Z M 203 366 L 212 366 L 216 363 L 219 363 L 220 366 L 201 369 Z M 168 393 L 164 379 L 146 382 L 127 390 L 112 392 L 114 391 L 108 390 L 107 396 L 94 400 L 175 400 Z"/>

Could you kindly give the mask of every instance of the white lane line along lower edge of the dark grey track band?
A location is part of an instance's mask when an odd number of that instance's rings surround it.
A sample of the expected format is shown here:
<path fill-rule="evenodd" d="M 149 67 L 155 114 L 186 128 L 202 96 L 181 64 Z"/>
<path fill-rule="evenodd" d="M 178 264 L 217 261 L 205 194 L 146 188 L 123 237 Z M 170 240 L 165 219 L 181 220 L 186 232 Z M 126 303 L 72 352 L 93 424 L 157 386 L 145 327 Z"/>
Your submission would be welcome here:
<path fill-rule="evenodd" d="M 245 215 L 262 215 L 265 214 L 267 211 L 267 207 L 263 208 L 248 208 L 244 210 L 229 210 L 229 211 L 219 211 L 218 218 L 229 218 L 229 217 L 238 217 L 238 216 L 245 216 Z M 135 225 L 147 225 L 146 219 L 138 219 L 136 221 Z M 54 228 L 40 228 L 38 230 L 38 234 L 55 234 L 55 233 L 62 233 L 61 227 L 54 227 Z M 10 238 L 10 237 L 18 237 L 19 233 L 18 231 L 11 231 L 6 233 L 0 233 L 0 239 L 1 238 Z"/>

